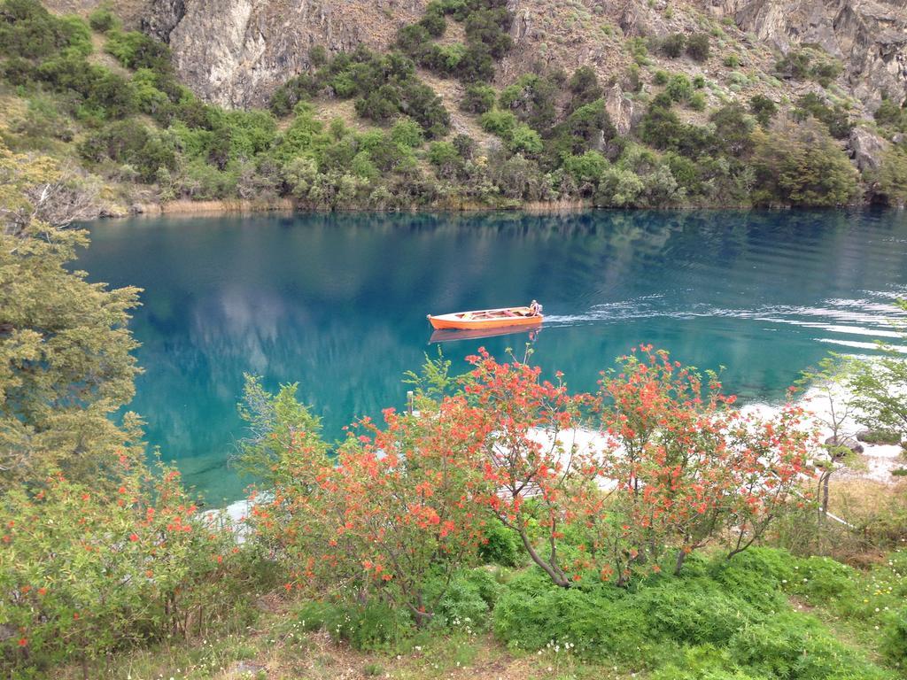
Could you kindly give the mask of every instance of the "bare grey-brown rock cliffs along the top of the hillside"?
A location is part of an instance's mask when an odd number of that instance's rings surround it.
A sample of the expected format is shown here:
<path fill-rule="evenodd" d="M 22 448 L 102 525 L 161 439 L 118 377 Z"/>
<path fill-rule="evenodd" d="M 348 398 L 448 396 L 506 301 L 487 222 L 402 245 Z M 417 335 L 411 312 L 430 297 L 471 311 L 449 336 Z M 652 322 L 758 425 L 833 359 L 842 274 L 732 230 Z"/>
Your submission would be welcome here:
<path fill-rule="evenodd" d="M 127 24 L 171 44 L 180 77 L 200 96 L 251 106 L 267 102 L 279 83 L 307 69 L 312 45 L 333 52 L 358 44 L 384 48 L 400 25 L 422 15 L 427 1 L 120 0 L 116 9 Z M 84 12 L 99 2 L 49 4 Z M 535 63 L 568 72 L 590 64 L 608 80 L 629 64 L 627 37 L 693 33 L 707 29 L 704 20 L 711 16 L 734 20 L 736 27 L 722 24 L 727 42 L 718 42 L 730 45 L 750 70 L 770 74 L 775 52 L 818 44 L 844 63 L 839 84 L 868 111 L 883 92 L 907 99 L 907 0 L 511 0 L 510 6 L 516 48 L 499 69 L 502 83 Z M 714 80 L 731 70 L 720 61 L 702 68 L 688 61 L 664 66 Z M 766 93 L 777 99 L 791 92 Z M 631 106 L 619 92 L 610 92 L 610 102 L 628 117 Z"/>

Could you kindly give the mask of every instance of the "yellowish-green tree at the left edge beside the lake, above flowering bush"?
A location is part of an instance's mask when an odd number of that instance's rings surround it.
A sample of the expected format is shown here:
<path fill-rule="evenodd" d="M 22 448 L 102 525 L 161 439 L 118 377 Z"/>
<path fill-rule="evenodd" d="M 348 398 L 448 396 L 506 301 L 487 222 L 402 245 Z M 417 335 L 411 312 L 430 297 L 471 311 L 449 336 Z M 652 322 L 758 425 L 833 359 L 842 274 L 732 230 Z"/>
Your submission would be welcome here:
<path fill-rule="evenodd" d="M 140 455 L 137 419 L 111 416 L 132 399 L 138 369 L 127 328 L 138 289 L 109 290 L 67 269 L 88 242 L 93 200 L 45 157 L 0 146 L 0 488 L 52 471 L 96 479 Z"/>

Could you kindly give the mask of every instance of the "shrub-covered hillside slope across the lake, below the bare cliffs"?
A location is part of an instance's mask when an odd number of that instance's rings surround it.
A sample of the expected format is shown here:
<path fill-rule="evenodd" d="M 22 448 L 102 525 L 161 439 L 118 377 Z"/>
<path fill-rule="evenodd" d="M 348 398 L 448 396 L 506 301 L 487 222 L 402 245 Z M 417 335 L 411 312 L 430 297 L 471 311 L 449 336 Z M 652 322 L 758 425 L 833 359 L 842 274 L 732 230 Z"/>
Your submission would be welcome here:
<path fill-rule="evenodd" d="M 737 70 L 749 53 L 729 49 L 715 23 L 663 39 L 606 36 L 629 63 L 608 82 L 588 65 L 568 73 L 539 61 L 495 87 L 513 50 L 511 12 L 499 0 L 435 0 L 386 52 L 316 44 L 307 71 L 272 92 L 267 109 L 225 110 L 179 82 L 167 45 L 123 30 L 108 9 L 83 19 L 5 0 L 0 18 L 5 144 L 65 160 L 102 212 L 177 199 L 838 206 L 900 204 L 907 191 L 899 144 L 866 131 L 872 162 L 858 156 L 860 171 L 849 160 L 845 147 L 862 134 L 854 126 L 868 123 L 835 84 L 837 60 L 799 49 L 777 57 L 774 85 L 754 82 Z M 726 83 L 688 75 L 717 59 Z M 794 92 L 778 79 L 814 86 L 778 99 Z M 872 122 L 896 141 L 905 124 L 888 99 Z"/>

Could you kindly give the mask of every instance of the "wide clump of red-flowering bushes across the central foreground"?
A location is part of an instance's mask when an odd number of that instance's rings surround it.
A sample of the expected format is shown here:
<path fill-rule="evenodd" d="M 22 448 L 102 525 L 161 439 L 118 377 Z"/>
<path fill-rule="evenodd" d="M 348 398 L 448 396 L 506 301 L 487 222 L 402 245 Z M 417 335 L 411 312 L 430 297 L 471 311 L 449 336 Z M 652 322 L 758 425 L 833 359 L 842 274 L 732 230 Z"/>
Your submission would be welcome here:
<path fill-rule="evenodd" d="M 387 411 L 383 427 L 357 423 L 336 459 L 304 410 L 258 394 L 276 420 L 249 452 L 274 489 L 252 518 L 290 565 L 288 589 L 376 598 L 423 624 L 444 597 L 426 583 L 468 565 L 488 521 L 561 587 L 590 574 L 624 584 L 666 560 L 678 571 L 709 542 L 746 549 L 805 471 L 798 409 L 744 417 L 717 375 L 704 384 L 650 346 L 603 374 L 597 396 L 484 350 L 468 361 L 461 390 L 420 393 L 421 413 Z"/>

